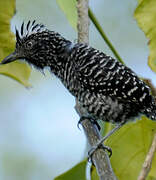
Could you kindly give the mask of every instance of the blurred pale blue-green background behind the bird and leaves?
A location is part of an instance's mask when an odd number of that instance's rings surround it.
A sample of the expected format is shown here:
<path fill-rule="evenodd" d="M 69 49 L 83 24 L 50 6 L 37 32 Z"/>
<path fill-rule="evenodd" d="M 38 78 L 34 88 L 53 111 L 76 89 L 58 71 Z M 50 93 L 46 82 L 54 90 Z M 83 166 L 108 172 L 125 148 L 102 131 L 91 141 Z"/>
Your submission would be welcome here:
<path fill-rule="evenodd" d="M 125 63 L 156 84 L 147 66 L 148 41 L 133 18 L 136 5 L 137 0 L 90 0 Z M 77 33 L 55 0 L 16 0 L 16 7 L 12 31 L 23 20 L 35 19 L 76 42 Z M 112 55 L 92 23 L 90 45 Z M 75 99 L 54 75 L 32 69 L 30 89 L 2 75 L 0 83 L 0 179 L 50 180 L 84 158 L 86 139 L 77 128 Z"/>

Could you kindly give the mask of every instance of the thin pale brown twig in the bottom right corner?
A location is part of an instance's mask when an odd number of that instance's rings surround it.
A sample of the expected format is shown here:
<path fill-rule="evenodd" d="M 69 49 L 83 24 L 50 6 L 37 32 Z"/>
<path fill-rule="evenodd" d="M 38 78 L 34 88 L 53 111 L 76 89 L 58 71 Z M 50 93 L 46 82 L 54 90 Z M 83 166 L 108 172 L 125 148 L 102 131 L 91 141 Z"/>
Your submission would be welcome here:
<path fill-rule="evenodd" d="M 150 150 L 146 156 L 146 159 L 143 163 L 142 170 L 140 172 L 140 175 L 138 177 L 138 180 L 145 180 L 152 165 L 152 160 L 154 158 L 154 153 L 156 152 L 156 134 L 154 135 L 152 145 L 150 147 Z"/>

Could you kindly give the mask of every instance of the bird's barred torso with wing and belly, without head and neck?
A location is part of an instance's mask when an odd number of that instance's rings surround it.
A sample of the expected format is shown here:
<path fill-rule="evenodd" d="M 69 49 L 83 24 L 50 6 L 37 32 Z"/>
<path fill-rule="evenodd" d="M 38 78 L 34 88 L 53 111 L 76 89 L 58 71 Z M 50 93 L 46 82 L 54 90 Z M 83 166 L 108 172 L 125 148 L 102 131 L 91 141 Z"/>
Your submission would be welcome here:
<path fill-rule="evenodd" d="M 89 114 L 112 122 L 140 113 L 156 119 L 150 89 L 131 69 L 84 44 L 75 45 L 70 61 L 75 96 Z"/>

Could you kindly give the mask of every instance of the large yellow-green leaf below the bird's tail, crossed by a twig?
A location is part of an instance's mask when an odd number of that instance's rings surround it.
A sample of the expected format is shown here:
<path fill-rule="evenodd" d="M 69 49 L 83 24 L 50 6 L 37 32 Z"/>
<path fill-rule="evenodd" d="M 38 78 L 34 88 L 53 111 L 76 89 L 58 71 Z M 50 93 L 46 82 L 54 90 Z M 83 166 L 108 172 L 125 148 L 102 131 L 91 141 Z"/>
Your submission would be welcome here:
<path fill-rule="evenodd" d="M 105 142 L 112 148 L 111 164 L 120 180 L 137 179 L 156 133 L 156 122 L 145 117 L 124 125 Z M 156 157 L 147 180 L 156 178 Z"/>

